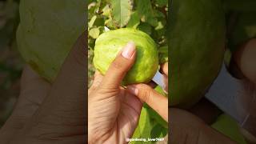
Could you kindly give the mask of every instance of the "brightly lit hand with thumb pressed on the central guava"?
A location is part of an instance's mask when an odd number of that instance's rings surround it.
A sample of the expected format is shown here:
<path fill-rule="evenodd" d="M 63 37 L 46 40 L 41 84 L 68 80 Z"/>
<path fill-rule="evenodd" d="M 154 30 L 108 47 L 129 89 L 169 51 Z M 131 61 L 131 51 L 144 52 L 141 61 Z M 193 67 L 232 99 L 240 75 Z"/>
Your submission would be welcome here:
<path fill-rule="evenodd" d="M 104 77 L 96 72 L 88 98 L 89 143 L 126 143 L 126 138 L 134 133 L 142 102 L 124 89 L 121 82 L 135 56 L 134 43 L 129 43 L 118 53 Z"/>

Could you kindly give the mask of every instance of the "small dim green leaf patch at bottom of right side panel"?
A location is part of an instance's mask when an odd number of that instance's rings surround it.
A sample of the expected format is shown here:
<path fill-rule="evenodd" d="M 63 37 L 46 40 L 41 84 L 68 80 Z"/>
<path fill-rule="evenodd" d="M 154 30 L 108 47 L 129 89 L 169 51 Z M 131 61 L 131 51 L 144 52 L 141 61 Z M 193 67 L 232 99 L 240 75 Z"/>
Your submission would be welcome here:
<path fill-rule="evenodd" d="M 215 130 L 218 130 L 220 133 L 226 135 L 235 142 L 238 142 L 238 144 L 246 144 L 246 140 L 242 136 L 238 122 L 236 122 L 229 115 L 220 115 L 216 122 L 211 125 L 211 127 L 213 127 Z"/>

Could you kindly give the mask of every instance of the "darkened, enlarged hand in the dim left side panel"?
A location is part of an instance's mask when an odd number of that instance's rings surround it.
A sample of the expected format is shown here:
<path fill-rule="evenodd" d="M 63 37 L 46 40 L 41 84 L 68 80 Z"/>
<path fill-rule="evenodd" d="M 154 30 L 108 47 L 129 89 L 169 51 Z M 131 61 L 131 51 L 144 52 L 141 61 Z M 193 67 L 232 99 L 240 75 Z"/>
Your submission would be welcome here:
<path fill-rule="evenodd" d="M 10 144 L 86 142 L 86 37 L 70 51 L 54 83 L 30 67 L 23 70 L 21 94 L 0 130 Z"/>

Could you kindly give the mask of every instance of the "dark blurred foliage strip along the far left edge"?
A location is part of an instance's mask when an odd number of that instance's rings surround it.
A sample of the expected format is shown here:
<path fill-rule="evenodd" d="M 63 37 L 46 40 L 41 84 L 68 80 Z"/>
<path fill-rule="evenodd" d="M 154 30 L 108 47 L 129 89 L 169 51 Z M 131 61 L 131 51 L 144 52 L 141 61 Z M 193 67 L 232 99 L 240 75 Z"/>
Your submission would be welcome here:
<path fill-rule="evenodd" d="M 0 0 L 0 126 L 13 110 L 24 65 L 15 38 L 18 4 L 19 0 Z"/>

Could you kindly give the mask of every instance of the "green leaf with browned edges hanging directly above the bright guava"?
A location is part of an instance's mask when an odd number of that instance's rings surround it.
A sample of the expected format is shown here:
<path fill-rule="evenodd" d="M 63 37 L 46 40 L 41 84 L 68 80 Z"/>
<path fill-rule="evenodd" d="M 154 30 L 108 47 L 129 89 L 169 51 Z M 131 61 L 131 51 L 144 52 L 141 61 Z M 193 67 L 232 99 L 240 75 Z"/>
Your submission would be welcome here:
<path fill-rule="evenodd" d="M 126 26 L 132 13 L 132 0 L 110 0 L 110 14 L 118 27 Z"/>

